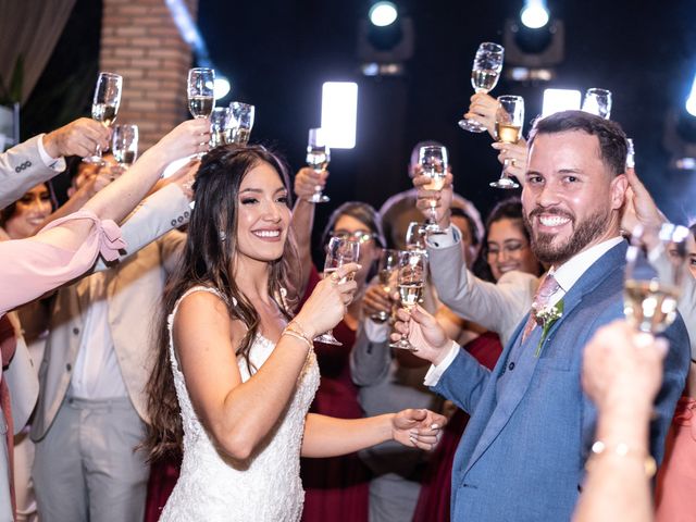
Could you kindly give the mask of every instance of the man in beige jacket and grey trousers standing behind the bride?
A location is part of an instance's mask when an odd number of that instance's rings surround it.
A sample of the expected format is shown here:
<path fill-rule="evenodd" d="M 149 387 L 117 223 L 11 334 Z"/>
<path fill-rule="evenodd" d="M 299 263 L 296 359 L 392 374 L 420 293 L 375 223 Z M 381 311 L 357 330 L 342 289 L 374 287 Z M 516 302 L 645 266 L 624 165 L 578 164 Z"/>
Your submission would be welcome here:
<path fill-rule="evenodd" d="M 129 250 L 188 221 L 188 203 L 176 185 L 146 200 L 124 225 Z M 30 433 L 41 520 L 142 520 L 149 468 L 134 448 L 160 299 L 184 241 L 172 231 L 59 290 Z"/>

